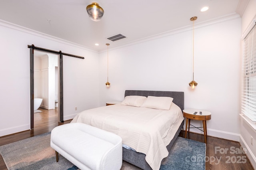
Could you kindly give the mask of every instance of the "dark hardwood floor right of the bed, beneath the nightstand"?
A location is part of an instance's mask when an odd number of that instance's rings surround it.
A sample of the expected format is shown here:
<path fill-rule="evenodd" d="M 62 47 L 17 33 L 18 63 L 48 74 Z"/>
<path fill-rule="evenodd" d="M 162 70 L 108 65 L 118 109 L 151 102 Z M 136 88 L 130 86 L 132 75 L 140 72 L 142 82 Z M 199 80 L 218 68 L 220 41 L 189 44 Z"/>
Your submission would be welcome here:
<path fill-rule="evenodd" d="M 185 137 L 185 131 L 180 132 Z M 204 142 L 204 135 L 187 133 L 187 138 Z M 246 154 L 236 141 L 207 137 L 206 143 L 206 170 L 254 170 Z"/>

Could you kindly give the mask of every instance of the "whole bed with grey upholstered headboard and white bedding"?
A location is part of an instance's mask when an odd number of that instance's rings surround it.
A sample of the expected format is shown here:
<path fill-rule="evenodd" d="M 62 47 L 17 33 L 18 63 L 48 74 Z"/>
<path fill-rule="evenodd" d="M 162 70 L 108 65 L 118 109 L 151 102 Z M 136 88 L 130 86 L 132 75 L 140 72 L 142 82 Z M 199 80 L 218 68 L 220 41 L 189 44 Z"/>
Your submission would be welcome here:
<path fill-rule="evenodd" d="M 120 104 L 82 111 L 71 123 L 86 123 L 118 134 L 123 139 L 124 161 L 144 170 L 157 170 L 183 128 L 184 92 L 126 90 L 124 97 Z M 134 97 L 136 104 L 127 104 Z M 169 109 L 162 108 L 170 98 Z M 149 99 L 152 105 L 152 101 L 161 101 L 160 106 L 145 105 Z"/>

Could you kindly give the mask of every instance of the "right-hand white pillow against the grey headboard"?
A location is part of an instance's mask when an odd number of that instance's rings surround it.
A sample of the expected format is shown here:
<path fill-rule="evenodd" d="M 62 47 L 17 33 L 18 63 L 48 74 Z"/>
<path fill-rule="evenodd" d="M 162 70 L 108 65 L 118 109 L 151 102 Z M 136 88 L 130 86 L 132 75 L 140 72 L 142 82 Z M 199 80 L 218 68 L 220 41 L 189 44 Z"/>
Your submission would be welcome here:
<path fill-rule="evenodd" d="M 172 97 L 148 96 L 147 100 L 143 103 L 141 107 L 169 110 L 172 104 L 172 100 Z"/>

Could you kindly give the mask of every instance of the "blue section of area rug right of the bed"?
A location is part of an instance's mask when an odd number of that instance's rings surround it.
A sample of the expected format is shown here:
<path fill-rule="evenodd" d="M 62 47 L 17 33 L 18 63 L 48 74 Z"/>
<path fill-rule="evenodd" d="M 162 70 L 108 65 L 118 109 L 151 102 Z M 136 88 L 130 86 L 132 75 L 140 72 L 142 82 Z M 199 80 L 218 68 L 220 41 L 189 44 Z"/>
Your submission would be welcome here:
<path fill-rule="evenodd" d="M 178 137 L 160 170 L 205 170 L 206 144 Z"/>

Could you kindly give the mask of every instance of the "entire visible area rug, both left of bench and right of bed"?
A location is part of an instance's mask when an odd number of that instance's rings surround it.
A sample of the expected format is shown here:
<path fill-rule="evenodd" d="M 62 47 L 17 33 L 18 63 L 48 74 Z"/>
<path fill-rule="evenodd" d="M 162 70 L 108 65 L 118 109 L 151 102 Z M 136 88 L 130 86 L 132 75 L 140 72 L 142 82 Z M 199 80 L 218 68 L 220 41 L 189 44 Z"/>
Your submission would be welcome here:
<path fill-rule="evenodd" d="M 61 154 L 56 162 L 50 147 L 50 132 L 11 144 L 0 146 L 0 154 L 8 170 L 77 170 Z M 202 142 L 178 137 L 164 159 L 160 170 L 205 170 L 206 145 Z M 121 170 L 138 170 L 123 162 Z"/>

